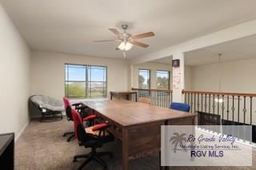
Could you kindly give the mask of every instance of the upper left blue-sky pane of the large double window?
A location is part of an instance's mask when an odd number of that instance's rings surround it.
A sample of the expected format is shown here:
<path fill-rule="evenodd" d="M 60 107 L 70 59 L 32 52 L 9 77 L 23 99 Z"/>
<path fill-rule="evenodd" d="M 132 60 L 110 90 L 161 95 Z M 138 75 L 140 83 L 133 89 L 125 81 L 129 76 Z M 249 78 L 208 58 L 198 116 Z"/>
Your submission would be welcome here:
<path fill-rule="evenodd" d="M 66 81 L 86 81 L 86 66 L 66 65 Z"/>

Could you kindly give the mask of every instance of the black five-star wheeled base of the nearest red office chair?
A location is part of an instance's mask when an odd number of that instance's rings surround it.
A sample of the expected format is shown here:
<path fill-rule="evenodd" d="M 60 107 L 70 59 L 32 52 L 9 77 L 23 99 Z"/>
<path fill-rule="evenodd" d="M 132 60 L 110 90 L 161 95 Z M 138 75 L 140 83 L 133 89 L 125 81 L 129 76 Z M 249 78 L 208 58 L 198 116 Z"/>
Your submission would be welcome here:
<path fill-rule="evenodd" d="M 86 160 L 80 165 L 78 170 L 81 170 L 86 166 L 86 164 L 90 163 L 90 161 L 95 160 L 98 164 L 102 165 L 104 169 L 107 169 L 106 162 L 102 160 L 101 156 L 110 156 L 113 158 L 112 152 L 96 152 L 96 148 L 92 148 L 90 153 L 82 154 L 74 156 L 73 162 L 76 162 L 78 158 L 86 158 Z"/>

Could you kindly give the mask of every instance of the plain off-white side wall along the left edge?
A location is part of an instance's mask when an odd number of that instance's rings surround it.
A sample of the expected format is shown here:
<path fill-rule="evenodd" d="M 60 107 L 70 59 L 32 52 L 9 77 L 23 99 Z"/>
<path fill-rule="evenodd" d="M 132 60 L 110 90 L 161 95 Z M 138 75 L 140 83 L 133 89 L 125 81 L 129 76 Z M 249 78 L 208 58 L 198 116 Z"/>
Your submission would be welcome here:
<path fill-rule="evenodd" d="M 0 4 L 0 133 L 20 135 L 29 121 L 30 49 Z"/>

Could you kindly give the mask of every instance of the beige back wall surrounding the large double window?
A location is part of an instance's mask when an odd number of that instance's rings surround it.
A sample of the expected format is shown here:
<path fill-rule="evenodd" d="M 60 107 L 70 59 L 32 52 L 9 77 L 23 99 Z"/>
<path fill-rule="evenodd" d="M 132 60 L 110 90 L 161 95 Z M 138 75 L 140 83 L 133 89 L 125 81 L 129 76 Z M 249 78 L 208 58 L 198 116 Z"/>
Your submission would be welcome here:
<path fill-rule="evenodd" d="M 30 94 L 43 94 L 62 99 L 64 89 L 64 64 L 107 66 L 107 91 L 128 89 L 128 62 L 120 59 L 86 57 L 65 53 L 32 52 Z"/>

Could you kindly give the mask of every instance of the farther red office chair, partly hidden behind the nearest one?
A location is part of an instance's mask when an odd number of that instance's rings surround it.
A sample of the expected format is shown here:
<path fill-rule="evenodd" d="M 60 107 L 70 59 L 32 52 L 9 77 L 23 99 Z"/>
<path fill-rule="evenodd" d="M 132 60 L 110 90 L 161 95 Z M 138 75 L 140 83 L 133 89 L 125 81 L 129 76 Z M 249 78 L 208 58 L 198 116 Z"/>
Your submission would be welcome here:
<path fill-rule="evenodd" d="M 73 117 L 72 117 L 72 114 L 71 114 L 71 110 L 72 110 L 71 106 L 74 106 L 74 108 L 79 113 L 86 112 L 87 107 L 85 105 L 82 105 L 82 103 L 74 103 L 74 104 L 71 105 L 70 100 L 67 97 L 63 97 L 63 101 L 64 101 L 65 110 L 66 110 L 66 119 L 67 119 L 67 121 L 73 121 Z M 90 116 L 84 117 L 83 121 L 90 121 L 89 124 L 91 125 L 95 118 L 96 118 L 96 115 L 90 115 Z M 70 140 L 74 137 L 74 131 L 65 132 L 63 134 L 63 136 L 67 136 L 67 135 L 70 135 L 67 138 L 67 141 L 70 142 Z"/>

